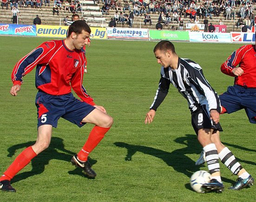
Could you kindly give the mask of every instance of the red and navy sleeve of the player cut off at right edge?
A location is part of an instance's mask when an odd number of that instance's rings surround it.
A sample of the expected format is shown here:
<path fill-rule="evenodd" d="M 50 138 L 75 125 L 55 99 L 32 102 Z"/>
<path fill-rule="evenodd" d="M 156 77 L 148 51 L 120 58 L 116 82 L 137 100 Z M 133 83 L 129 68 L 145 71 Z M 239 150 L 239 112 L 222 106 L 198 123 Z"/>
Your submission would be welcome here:
<path fill-rule="evenodd" d="M 234 73 L 232 73 L 232 70 L 241 62 L 244 55 L 244 50 L 245 46 L 242 46 L 238 50 L 234 51 L 232 55 L 229 56 L 228 59 L 221 65 L 221 72 L 225 73 L 226 75 L 235 77 Z"/>

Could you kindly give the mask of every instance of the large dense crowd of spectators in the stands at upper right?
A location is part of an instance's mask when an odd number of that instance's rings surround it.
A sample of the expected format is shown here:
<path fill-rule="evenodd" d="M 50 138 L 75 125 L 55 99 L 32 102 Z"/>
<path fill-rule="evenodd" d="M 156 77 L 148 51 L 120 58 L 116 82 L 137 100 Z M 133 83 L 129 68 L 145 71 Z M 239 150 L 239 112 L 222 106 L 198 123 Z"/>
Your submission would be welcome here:
<path fill-rule="evenodd" d="M 248 26 L 254 26 L 255 21 L 256 0 L 102 0 L 102 3 L 103 15 L 109 15 L 109 11 L 114 9 L 116 12 L 113 19 L 117 24 L 127 23 L 130 27 L 137 16 L 144 16 L 144 23 L 151 24 L 151 17 L 150 21 L 146 18 L 156 13 L 159 14 L 158 22 L 163 26 L 179 24 L 181 19 L 183 25 L 186 18 L 189 18 L 190 23 L 203 23 L 205 18 L 223 17 L 222 19 L 235 21 L 241 17 L 243 21 L 248 19 Z"/>

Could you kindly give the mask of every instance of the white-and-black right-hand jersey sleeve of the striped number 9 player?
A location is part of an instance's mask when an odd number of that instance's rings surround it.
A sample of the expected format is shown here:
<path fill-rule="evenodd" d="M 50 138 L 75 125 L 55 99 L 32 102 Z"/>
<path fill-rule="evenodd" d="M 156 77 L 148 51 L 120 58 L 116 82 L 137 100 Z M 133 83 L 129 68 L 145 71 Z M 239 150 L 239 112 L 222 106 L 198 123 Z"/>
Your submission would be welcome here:
<path fill-rule="evenodd" d="M 194 69 L 190 73 L 190 80 L 195 85 L 196 89 L 205 96 L 208 101 L 209 111 L 216 110 L 220 113 L 220 100 L 218 94 L 215 92 L 213 87 L 210 86 L 210 83 L 204 77 L 203 70 Z"/>

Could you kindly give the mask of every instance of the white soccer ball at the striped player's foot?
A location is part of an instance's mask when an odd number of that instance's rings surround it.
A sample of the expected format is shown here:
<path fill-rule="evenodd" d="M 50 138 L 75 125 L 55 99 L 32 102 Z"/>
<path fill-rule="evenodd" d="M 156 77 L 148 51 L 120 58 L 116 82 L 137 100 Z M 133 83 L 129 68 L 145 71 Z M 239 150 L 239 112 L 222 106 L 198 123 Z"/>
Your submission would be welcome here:
<path fill-rule="evenodd" d="M 198 193 L 204 193 L 202 185 L 208 183 L 210 179 L 211 175 L 208 172 L 204 170 L 196 171 L 190 178 L 191 188 Z"/>

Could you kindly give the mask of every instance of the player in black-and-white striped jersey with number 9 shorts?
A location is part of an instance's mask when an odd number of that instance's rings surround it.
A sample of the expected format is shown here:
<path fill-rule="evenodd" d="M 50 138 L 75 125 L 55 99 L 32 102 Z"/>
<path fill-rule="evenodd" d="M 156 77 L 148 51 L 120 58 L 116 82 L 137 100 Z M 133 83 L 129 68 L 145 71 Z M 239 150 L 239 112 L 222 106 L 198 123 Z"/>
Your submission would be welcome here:
<path fill-rule="evenodd" d="M 218 154 L 221 154 L 227 147 L 221 143 L 219 137 L 219 131 L 223 131 L 219 124 L 219 96 L 205 79 L 203 71 L 197 63 L 176 55 L 173 43 L 169 41 L 157 43 L 154 53 L 157 62 L 161 65 L 161 78 L 154 102 L 146 114 L 145 124 L 150 124 L 154 120 L 157 107 L 164 101 L 170 83 L 172 83 L 188 101 L 191 124 L 205 151 L 205 159 L 212 179 L 209 183 L 204 184 L 203 188 L 206 192 L 222 192 L 224 186 L 220 177 Z M 232 159 L 229 169 L 234 174 L 245 172 L 234 155 L 231 152 L 229 154 Z"/>

